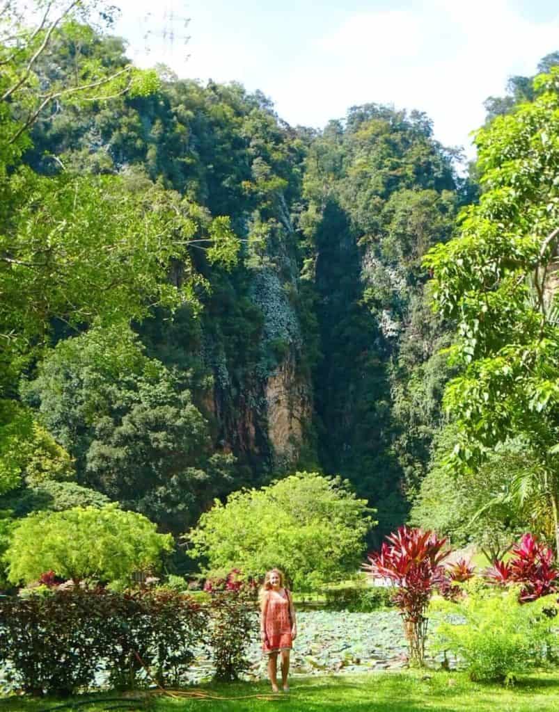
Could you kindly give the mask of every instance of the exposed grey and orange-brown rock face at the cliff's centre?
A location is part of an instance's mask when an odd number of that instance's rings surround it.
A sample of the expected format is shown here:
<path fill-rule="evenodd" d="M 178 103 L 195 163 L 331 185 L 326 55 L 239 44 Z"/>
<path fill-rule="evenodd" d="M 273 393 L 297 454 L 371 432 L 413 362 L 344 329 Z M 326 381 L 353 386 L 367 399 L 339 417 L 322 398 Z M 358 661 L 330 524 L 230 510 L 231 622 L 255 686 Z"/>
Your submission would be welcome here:
<path fill-rule="evenodd" d="M 294 471 L 302 450 L 309 453 L 313 384 L 305 365 L 308 335 L 292 242 L 291 231 L 277 229 L 267 254 L 245 269 L 245 293 L 235 293 L 234 305 L 250 307 L 242 314 L 222 313 L 217 330 L 215 321 L 202 328 L 202 360 L 213 388 L 201 405 L 215 422 L 215 445 L 247 466 L 251 483 Z M 213 309 L 210 301 L 207 313 Z M 250 344 L 245 339 L 232 346 L 235 318 L 241 328 L 258 321 Z M 317 461 L 311 454 L 305 464 Z"/>

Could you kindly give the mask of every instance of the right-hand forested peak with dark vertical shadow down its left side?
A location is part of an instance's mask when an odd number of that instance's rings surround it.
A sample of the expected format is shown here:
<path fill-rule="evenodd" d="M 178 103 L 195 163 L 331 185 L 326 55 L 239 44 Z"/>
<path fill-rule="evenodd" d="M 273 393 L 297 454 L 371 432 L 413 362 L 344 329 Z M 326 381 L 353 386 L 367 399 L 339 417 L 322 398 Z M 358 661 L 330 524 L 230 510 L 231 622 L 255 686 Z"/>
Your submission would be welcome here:
<path fill-rule="evenodd" d="M 419 112 L 367 104 L 309 147 L 304 278 L 317 291 L 319 450 L 379 509 L 379 535 L 405 518 L 439 427 L 446 370 L 429 359 L 441 324 L 421 256 L 451 234 L 451 156 Z"/>

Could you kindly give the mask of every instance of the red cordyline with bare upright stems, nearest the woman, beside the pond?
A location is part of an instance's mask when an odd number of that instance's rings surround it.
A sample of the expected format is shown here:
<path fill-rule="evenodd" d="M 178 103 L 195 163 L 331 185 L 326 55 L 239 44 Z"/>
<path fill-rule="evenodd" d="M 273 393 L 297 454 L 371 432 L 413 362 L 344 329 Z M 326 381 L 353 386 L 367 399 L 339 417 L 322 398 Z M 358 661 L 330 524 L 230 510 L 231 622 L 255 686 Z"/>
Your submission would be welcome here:
<path fill-rule="evenodd" d="M 389 579 L 396 587 L 394 603 L 404 619 L 411 664 L 423 666 L 427 634 L 426 608 L 433 592 L 446 581 L 443 551 L 446 539 L 432 531 L 400 527 L 386 537 L 381 550 L 363 565 L 369 576 Z"/>

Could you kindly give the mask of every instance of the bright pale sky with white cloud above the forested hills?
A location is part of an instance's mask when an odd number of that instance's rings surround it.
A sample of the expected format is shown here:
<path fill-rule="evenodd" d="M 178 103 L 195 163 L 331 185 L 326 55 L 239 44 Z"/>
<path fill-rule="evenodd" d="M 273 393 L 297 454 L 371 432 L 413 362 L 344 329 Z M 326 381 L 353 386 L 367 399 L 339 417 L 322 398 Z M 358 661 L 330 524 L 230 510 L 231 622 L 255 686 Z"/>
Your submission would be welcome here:
<path fill-rule="evenodd" d="M 559 50 L 558 0 L 115 0 L 141 66 L 260 89 L 292 125 L 366 102 L 419 109 L 462 145 L 483 100 Z M 188 26 L 186 20 L 190 19 Z M 190 40 L 186 42 L 186 37 Z"/>

